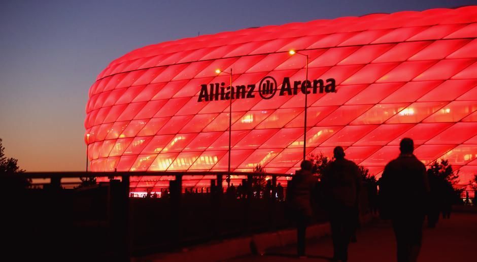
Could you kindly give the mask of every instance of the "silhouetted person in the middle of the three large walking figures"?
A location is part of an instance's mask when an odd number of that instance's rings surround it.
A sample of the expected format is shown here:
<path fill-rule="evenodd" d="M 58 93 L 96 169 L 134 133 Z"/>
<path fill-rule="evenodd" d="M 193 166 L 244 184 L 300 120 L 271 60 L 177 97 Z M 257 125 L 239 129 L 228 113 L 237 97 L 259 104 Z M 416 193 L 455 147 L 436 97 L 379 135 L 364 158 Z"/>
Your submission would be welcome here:
<path fill-rule="evenodd" d="M 348 260 L 348 244 L 355 231 L 361 175 L 358 166 L 345 158 L 342 147 L 333 150 L 335 160 L 325 168 L 321 178 L 329 209 L 333 260 Z"/>

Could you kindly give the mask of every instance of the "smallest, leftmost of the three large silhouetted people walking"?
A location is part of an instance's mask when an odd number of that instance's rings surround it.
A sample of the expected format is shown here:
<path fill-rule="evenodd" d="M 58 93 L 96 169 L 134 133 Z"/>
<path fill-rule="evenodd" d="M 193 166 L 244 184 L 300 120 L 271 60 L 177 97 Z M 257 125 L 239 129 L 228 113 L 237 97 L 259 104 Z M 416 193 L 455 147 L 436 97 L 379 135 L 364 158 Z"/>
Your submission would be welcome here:
<path fill-rule="evenodd" d="M 306 226 L 312 216 L 311 195 L 316 179 L 312 175 L 312 162 L 304 160 L 300 167 L 301 169 L 288 182 L 287 204 L 289 217 L 293 217 L 296 222 L 297 253 L 298 256 L 304 256 Z"/>

